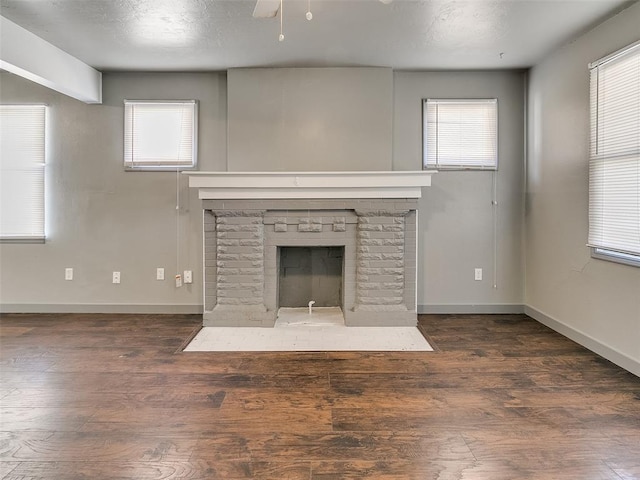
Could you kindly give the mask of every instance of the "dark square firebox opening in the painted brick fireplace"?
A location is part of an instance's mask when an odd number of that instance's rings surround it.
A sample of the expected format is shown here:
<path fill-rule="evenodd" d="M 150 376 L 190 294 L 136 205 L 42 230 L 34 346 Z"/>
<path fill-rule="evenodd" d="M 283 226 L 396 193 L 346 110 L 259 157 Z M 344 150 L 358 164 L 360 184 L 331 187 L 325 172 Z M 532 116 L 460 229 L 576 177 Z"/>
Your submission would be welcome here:
<path fill-rule="evenodd" d="M 344 247 L 279 247 L 278 307 L 342 307 Z"/>

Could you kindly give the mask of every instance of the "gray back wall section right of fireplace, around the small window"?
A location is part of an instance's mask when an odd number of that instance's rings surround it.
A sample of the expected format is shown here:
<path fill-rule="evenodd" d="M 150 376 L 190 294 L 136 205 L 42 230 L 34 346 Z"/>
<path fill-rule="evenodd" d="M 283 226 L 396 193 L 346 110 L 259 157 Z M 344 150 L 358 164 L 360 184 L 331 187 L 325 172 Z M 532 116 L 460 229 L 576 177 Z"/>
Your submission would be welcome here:
<path fill-rule="evenodd" d="M 525 78 L 524 72 L 394 75 L 394 170 L 421 168 L 423 98 L 498 99 L 497 172 L 439 172 L 423 189 L 418 206 L 421 312 L 522 310 Z M 492 206 L 494 182 L 497 208 Z M 474 280 L 476 267 L 483 269 L 482 281 Z"/>

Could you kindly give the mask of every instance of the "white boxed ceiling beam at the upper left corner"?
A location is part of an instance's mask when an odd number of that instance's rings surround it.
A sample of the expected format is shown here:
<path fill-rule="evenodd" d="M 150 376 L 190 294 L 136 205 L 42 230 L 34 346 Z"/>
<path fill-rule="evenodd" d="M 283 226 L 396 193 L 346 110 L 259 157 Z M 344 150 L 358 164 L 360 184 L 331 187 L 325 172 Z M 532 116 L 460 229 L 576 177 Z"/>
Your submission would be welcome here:
<path fill-rule="evenodd" d="M 102 73 L 0 16 L 0 68 L 85 103 L 102 103 Z"/>

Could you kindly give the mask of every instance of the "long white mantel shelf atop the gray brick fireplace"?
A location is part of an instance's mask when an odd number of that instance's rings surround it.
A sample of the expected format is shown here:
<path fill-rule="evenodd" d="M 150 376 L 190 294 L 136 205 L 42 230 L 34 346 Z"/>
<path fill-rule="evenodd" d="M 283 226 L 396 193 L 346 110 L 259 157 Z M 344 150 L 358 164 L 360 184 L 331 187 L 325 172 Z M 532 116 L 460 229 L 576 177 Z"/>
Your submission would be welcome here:
<path fill-rule="evenodd" d="M 184 172 L 202 200 L 420 198 L 432 170 L 388 172 Z"/>

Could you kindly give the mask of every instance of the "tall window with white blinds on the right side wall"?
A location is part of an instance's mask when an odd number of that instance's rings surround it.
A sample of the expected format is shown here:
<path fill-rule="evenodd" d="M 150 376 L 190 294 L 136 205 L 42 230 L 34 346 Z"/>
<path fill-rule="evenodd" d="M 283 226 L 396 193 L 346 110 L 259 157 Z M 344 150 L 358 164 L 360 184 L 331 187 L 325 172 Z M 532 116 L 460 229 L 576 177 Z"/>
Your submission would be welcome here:
<path fill-rule="evenodd" d="M 589 246 L 640 266 L 640 42 L 589 68 Z"/>

